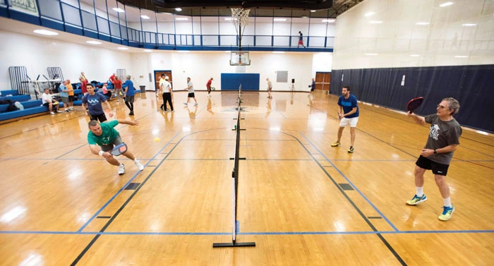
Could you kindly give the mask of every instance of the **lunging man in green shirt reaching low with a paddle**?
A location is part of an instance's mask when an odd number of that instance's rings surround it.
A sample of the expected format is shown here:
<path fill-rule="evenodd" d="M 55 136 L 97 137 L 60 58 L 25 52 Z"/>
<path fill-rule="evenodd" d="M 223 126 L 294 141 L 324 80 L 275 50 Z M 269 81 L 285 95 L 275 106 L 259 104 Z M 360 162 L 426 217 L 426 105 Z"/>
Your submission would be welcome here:
<path fill-rule="evenodd" d="M 98 121 L 91 120 L 88 123 L 90 130 L 88 132 L 88 143 L 93 155 L 100 155 L 104 157 L 109 164 L 119 167 L 119 174 L 123 174 L 125 173 L 125 166 L 115 159 L 115 157 L 113 157 L 110 153 L 113 150 L 114 145 L 119 145 L 122 143 L 119 131 L 116 131 L 114 128 L 119 123 L 125 123 L 131 126 L 139 125 L 138 121 L 112 120 L 100 123 Z M 138 159 L 135 159 L 132 152 L 127 150 L 122 155 L 133 160 L 139 171 L 143 171 L 143 164 L 141 164 Z"/>

